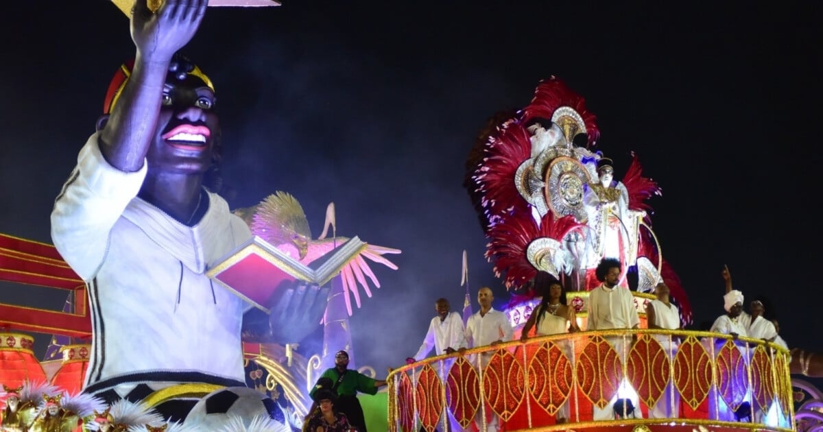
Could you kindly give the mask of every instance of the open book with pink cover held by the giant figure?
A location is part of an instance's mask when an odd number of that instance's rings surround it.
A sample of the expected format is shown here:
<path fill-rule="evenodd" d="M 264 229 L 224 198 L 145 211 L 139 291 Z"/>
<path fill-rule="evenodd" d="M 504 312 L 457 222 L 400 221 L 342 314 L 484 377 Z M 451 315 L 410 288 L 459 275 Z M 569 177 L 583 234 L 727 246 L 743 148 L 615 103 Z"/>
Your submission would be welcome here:
<path fill-rule="evenodd" d="M 278 288 L 298 280 L 324 286 L 366 246 L 355 236 L 304 264 L 255 235 L 206 274 L 240 298 L 268 312 L 268 305 Z"/>

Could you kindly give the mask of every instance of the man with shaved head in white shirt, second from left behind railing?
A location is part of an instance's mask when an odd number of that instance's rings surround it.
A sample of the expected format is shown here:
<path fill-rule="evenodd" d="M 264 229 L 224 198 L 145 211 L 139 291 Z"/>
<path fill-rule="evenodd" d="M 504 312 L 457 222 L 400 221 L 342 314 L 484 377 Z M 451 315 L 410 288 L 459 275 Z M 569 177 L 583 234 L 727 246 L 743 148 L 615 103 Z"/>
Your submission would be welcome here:
<path fill-rule="evenodd" d="M 480 310 L 477 314 L 473 314 L 468 318 L 466 323 L 466 341 L 472 348 L 478 346 L 497 345 L 502 342 L 512 340 L 511 323 L 502 312 L 491 307 L 491 300 L 495 299 L 495 295 L 491 292 L 491 288 L 484 286 L 477 291 L 477 303 L 480 304 Z M 493 351 L 489 351 L 480 355 L 481 365 L 485 368 L 488 365 Z M 482 370 L 481 370 L 482 379 Z M 489 408 L 477 410 L 475 416 L 475 424 L 478 430 L 483 430 L 483 415 L 489 411 Z M 500 427 L 500 418 L 494 413 L 491 413 L 491 420 L 486 425 L 486 432 L 497 432 Z"/>

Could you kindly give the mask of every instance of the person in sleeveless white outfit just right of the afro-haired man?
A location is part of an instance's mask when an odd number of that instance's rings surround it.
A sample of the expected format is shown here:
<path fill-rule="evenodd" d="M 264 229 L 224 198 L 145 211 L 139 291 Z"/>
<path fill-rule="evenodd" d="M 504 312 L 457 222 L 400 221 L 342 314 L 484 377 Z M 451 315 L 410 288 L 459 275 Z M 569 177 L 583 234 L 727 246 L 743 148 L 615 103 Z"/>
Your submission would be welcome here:
<path fill-rule="evenodd" d="M 657 296 L 657 299 L 646 304 L 646 318 L 649 323 L 649 328 L 665 330 L 677 330 L 681 328 L 680 311 L 677 309 L 677 306 L 669 302 L 668 286 L 663 282 L 658 283 L 658 285 L 654 287 L 654 295 Z M 663 350 L 667 351 L 669 360 L 674 361 L 674 355 L 677 354 L 677 337 L 654 335 L 654 338 L 660 342 Z M 663 392 L 663 396 L 661 396 L 658 402 L 649 410 L 649 418 L 668 419 L 677 417 L 680 395 L 674 389 L 673 379 L 674 377 L 671 377 Z"/>

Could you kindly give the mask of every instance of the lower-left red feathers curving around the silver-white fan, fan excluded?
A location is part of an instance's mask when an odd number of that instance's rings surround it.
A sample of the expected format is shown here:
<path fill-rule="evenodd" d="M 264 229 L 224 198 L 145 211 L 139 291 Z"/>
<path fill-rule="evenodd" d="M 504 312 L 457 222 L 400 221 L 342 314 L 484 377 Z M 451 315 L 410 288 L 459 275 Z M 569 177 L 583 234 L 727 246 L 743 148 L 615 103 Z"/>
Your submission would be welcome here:
<path fill-rule="evenodd" d="M 573 216 L 563 216 L 555 220 L 549 211 L 543 216 L 540 227 L 528 212 L 513 213 L 491 227 L 488 232 L 486 259 L 495 267 L 495 275 L 505 273 L 506 288 L 520 287 L 537 275 L 537 268 L 526 258 L 526 249 L 532 240 L 549 237 L 562 241 L 571 230 L 584 226 L 574 221 Z"/>

